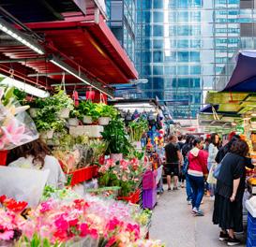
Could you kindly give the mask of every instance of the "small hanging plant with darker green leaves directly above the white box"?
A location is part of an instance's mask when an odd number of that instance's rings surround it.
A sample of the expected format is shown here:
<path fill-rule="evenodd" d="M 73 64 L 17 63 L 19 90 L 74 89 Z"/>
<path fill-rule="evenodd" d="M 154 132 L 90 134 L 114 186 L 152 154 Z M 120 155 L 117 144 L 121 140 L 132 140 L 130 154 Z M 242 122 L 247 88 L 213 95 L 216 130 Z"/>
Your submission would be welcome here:
<path fill-rule="evenodd" d="M 96 111 L 96 104 L 87 100 L 79 104 L 79 113 L 83 118 L 84 124 L 92 124 L 93 121 L 98 119 L 98 112 Z"/>

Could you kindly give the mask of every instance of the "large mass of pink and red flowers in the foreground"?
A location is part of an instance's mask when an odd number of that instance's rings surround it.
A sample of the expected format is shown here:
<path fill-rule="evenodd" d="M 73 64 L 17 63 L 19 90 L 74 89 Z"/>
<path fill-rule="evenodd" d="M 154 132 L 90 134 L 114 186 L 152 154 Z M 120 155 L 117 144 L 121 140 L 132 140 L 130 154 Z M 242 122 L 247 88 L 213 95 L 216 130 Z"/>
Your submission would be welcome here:
<path fill-rule="evenodd" d="M 53 194 L 54 198 L 51 197 Z M 147 216 L 138 206 L 121 201 L 90 195 L 81 197 L 70 189 L 63 190 L 63 193 L 52 189 L 38 208 L 29 212 L 27 219 L 17 217 L 23 203 L 11 202 L 9 205 L 13 211 L 7 204 L 6 210 L 0 208 L 0 212 L 4 212 L 2 217 L 6 218 L 5 224 L 0 223 L 0 227 L 5 227 L 2 239 L 11 240 L 13 229 L 19 229 L 23 236 L 18 246 L 35 238 L 41 242 L 47 240 L 49 246 L 56 243 L 73 247 L 162 246 L 155 241 L 143 240 Z"/>

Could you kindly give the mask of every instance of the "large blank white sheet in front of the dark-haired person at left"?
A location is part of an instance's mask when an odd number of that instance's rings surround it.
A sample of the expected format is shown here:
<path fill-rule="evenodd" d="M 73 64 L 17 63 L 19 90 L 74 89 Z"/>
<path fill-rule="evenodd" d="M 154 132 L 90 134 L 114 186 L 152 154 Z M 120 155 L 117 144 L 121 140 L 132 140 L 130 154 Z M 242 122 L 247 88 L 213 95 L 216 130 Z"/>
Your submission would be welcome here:
<path fill-rule="evenodd" d="M 0 196 L 6 195 L 28 206 L 38 206 L 50 170 L 0 167 Z"/>

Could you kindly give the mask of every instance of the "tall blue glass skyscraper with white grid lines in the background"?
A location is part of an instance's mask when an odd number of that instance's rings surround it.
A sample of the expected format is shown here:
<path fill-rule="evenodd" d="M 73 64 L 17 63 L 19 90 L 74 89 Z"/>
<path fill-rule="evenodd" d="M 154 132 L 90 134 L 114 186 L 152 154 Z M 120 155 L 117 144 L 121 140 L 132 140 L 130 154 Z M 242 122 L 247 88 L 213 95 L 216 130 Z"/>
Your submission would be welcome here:
<path fill-rule="evenodd" d="M 148 79 L 138 96 L 158 96 L 167 105 L 181 102 L 169 106 L 173 118 L 196 118 L 206 92 L 222 89 L 229 80 L 235 53 L 256 48 L 256 1 L 137 0 L 135 4 L 133 61 L 140 77 Z"/>

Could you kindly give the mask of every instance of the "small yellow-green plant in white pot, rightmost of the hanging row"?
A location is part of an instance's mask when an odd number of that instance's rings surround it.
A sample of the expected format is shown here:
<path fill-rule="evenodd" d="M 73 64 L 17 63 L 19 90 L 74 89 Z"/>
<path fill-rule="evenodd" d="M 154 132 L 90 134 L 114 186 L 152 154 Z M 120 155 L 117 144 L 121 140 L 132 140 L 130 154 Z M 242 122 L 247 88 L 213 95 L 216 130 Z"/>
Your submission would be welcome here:
<path fill-rule="evenodd" d="M 98 104 L 96 107 L 98 111 L 98 124 L 99 125 L 108 125 L 112 119 L 115 119 L 117 116 L 117 109 L 114 109 L 113 106 L 108 106 L 106 104 Z"/>

